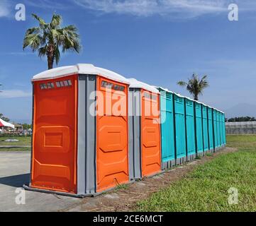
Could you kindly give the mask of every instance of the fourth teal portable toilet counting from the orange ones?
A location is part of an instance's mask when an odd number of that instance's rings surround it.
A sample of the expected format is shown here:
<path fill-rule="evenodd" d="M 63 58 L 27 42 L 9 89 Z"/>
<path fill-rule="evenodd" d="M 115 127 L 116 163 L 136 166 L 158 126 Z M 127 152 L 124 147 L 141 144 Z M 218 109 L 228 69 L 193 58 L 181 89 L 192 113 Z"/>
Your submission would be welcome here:
<path fill-rule="evenodd" d="M 194 102 L 195 108 L 195 123 L 196 123 L 196 154 L 204 155 L 204 147 L 203 147 L 203 125 L 202 125 L 202 111 L 201 111 L 201 103 Z"/>

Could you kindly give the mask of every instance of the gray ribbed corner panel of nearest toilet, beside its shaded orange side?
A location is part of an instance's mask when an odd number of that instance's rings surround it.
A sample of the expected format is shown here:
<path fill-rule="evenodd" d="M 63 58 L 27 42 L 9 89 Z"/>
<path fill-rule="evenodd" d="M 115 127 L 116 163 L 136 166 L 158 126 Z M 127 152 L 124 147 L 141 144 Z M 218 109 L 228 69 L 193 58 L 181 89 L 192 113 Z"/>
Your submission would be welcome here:
<path fill-rule="evenodd" d="M 95 104 L 90 95 L 96 90 L 96 76 L 79 75 L 78 82 L 78 139 L 77 194 L 96 192 L 96 117 L 89 107 Z M 95 109 L 95 108 L 94 108 Z M 95 112 L 94 112 L 95 113 Z"/>

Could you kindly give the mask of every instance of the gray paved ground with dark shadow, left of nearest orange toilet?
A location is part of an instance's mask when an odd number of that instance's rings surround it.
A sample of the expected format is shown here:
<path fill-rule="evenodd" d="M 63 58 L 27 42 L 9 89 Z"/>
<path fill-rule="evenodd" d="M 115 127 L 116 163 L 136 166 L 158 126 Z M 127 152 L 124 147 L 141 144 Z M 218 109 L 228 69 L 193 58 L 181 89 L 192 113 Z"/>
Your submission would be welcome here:
<path fill-rule="evenodd" d="M 82 199 L 26 191 L 26 204 L 17 205 L 16 189 L 28 184 L 30 152 L 0 152 L 0 212 L 57 211 L 79 204 Z"/>

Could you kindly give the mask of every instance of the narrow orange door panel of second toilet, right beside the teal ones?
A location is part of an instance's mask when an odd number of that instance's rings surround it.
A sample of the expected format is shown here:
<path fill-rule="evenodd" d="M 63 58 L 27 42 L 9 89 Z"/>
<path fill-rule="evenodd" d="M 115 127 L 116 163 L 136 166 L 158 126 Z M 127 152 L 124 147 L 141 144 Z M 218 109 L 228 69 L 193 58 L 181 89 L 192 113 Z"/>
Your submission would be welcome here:
<path fill-rule="evenodd" d="M 161 170 L 159 97 L 142 90 L 142 174 L 143 177 Z"/>

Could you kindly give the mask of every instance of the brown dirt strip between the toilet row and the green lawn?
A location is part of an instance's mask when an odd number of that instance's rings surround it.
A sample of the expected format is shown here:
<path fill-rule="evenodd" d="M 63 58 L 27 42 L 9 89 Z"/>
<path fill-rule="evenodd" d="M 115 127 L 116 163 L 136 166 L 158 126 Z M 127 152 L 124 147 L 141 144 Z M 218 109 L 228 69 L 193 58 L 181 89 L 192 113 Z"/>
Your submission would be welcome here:
<path fill-rule="evenodd" d="M 76 204 L 61 211 L 133 211 L 138 201 L 148 198 L 152 193 L 169 186 L 169 184 L 178 179 L 184 178 L 196 165 L 202 165 L 218 155 L 232 153 L 236 150 L 237 148 L 225 148 L 213 153 L 211 156 L 201 157 L 201 159 L 187 162 L 182 166 L 174 167 L 154 177 L 147 177 L 133 184 L 128 184 L 127 189 L 113 190 L 100 196 L 83 198 L 78 205 Z"/>

